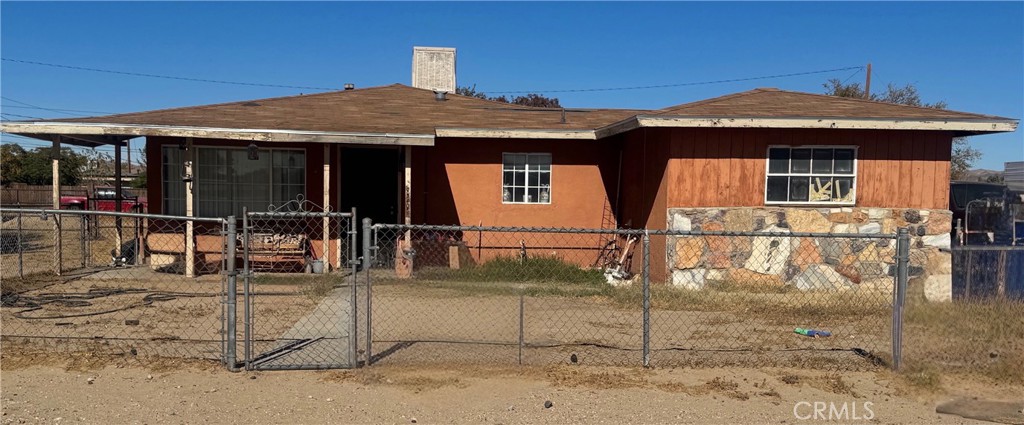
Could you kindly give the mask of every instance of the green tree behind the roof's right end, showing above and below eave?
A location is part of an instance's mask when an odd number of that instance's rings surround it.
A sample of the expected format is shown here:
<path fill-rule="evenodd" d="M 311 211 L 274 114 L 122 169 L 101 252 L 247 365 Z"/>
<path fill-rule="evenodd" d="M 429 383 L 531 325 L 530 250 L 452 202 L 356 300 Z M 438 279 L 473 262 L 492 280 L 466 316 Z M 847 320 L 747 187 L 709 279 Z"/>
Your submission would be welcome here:
<path fill-rule="evenodd" d="M 902 87 L 889 84 L 883 92 L 871 93 L 870 96 L 865 95 L 866 93 L 864 92 L 864 89 L 860 87 L 860 83 L 843 84 L 843 82 L 838 79 L 831 79 L 823 85 L 825 87 L 825 94 L 833 96 L 869 98 L 874 101 L 907 104 L 910 107 L 934 108 L 937 110 L 944 110 L 948 105 L 942 100 L 933 103 L 923 101 L 921 99 L 921 93 L 918 92 L 918 87 L 913 84 L 907 84 Z M 967 137 L 953 138 L 953 148 L 949 159 L 949 178 L 953 180 L 964 178 L 965 173 L 970 170 L 975 161 L 978 161 L 979 159 L 981 159 L 981 152 L 972 147 L 971 144 L 968 143 Z"/>

